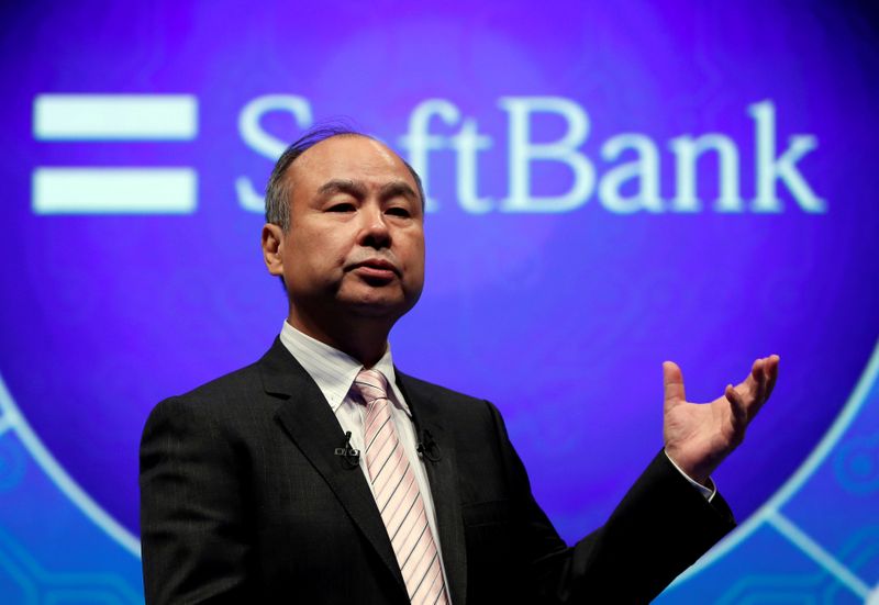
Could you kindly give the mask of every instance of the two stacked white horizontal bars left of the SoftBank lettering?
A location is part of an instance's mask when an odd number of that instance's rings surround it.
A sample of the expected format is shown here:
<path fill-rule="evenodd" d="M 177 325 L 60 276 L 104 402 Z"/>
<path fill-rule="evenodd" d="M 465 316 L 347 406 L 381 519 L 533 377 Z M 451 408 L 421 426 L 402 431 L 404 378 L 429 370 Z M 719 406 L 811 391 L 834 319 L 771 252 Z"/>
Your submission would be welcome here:
<path fill-rule="evenodd" d="M 40 94 L 36 141 L 192 141 L 198 100 L 190 94 Z M 191 168 L 37 167 L 35 214 L 189 214 L 198 176 Z"/>

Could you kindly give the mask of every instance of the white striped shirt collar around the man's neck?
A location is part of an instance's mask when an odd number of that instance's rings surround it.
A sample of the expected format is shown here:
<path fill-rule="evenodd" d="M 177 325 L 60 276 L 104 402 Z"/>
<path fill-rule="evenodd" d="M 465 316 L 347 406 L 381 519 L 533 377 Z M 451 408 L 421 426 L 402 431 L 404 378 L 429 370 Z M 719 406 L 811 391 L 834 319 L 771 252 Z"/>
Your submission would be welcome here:
<path fill-rule="evenodd" d="M 348 354 L 334 349 L 330 345 L 303 334 L 287 321 L 283 322 L 280 339 L 281 344 L 318 384 L 333 413 L 335 413 L 345 401 L 348 391 L 351 391 L 354 379 L 364 369 L 363 363 Z M 397 392 L 397 376 L 393 371 L 390 345 L 387 346 L 385 355 L 372 368 L 380 371 L 388 379 L 391 391 L 388 396 L 393 404 L 411 416 L 409 406 Z"/>

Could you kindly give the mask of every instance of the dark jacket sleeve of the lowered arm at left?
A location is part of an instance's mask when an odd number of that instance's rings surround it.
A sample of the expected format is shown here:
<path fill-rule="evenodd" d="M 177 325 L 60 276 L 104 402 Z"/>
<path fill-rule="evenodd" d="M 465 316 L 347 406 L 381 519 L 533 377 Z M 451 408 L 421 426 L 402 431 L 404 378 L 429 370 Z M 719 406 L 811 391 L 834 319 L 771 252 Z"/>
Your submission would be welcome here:
<path fill-rule="evenodd" d="M 234 444 L 200 406 L 159 403 L 141 441 L 141 536 L 148 605 L 245 603 L 252 541 Z"/>

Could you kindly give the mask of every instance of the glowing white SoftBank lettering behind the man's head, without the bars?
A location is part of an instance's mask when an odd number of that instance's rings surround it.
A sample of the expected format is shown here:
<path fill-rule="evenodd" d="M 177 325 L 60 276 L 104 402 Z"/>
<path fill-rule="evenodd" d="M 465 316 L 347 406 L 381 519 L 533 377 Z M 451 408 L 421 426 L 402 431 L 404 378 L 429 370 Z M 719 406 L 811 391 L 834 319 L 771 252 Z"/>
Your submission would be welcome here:
<path fill-rule="evenodd" d="M 507 113 L 508 191 L 502 197 L 491 197 L 479 188 L 480 155 L 496 146 L 496 138 L 479 131 L 475 117 L 461 115 L 450 101 L 430 99 L 421 102 L 409 116 L 409 132 L 397 143 L 413 168 L 421 175 L 427 192 L 427 210 L 437 211 L 449 200 L 432 198 L 431 159 L 450 153 L 455 157 L 457 204 L 474 214 L 488 212 L 560 213 L 572 212 L 598 193 L 601 205 L 610 212 L 726 212 L 777 213 L 785 210 L 779 190 L 785 187 L 803 212 L 826 211 L 826 202 L 815 194 L 798 163 L 817 149 L 814 135 L 798 134 L 787 138 L 779 148 L 776 133 L 776 108 L 771 101 L 748 105 L 747 115 L 753 121 L 752 145 L 755 165 L 756 192 L 745 200 L 741 191 L 742 165 L 739 144 L 722 133 L 700 135 L 683 134 L 671 138 L 660 153 L 649 135 L 626 133 L 604 141 L 600 158 L 588 157 L 582 147 L 589 138 L 590 120 L 586 110 L 570 99 L 560 97 L 503 97 L 498 108 Z M 244 142 L 267 158 L 276 158 L 283 150 L 279 141 L 260 127 L 260 117 L 269 112 L 287 112 L 300 127 L 312 123 L 309 101 L 294 96 L 267 96 L 255 99 L 242 111 L 238 128 Z M 564 120 L 565 133 L 556 141 L 537 143 L 534 122 L 539 114 L 555 114 Z M 743 116 L 743 119 L 748 119 Z M 453 134 L 438 134 L 457 128 Z M 715 156 L 719 195 L 705 201 L 699 195 L 697 164 L 710 163 Z M 634 159 L 631 157 L 634 156 Z M 668 157 L 670 156 L 670 157 Z M 625 160 L 623 158 L 625 157 Z M 675 183 L 660 187 L 660 161 L 672 161 Z M 533 169 L 537 163 L 558 163 L 572 175 L 568 191 L 556 195 L 537 195 L 532 187 Z M 704 173 L 704 172 L 703 172 Z M 262 197 L 246 177 L 236 181 L 238 200 L 249 210 L 262 210 Z M 632 190 L 634 189 L 634 192 Z M 676 193 L 664 200 L 660 190 Z"/>

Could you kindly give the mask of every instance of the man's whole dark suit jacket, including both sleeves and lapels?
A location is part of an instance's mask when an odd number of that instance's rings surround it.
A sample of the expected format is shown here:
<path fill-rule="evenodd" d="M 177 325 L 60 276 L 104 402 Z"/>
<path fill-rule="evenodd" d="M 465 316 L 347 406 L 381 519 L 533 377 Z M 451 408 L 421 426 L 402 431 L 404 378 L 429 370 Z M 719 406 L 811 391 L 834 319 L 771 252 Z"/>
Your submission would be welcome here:
<path fill-rule="evenodd" d="M 646 603 L 733 527 L 659 453 L 568 547 L 490 403 L 398 373 L 420 429 L 455 605 Z M 146 601 L 408 603 L 391 544 L 318 385 L 276 339 L 256 363 L 159 403 L 141 445 Z M 348 466 L 349 467 L 349 466 Z"/>

